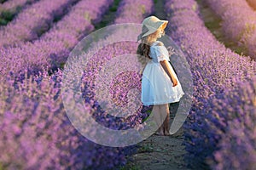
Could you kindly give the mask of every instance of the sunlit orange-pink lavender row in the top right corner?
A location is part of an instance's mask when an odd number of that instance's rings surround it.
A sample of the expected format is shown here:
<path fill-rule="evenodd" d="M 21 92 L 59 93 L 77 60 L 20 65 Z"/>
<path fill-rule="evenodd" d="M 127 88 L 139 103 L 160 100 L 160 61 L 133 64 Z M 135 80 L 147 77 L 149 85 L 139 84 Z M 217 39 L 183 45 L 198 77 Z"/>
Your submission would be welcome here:
<path fill-rule="evenodd" d="M 224 35 L 256 59 L 256 12 L 244 0 L 206 0 L 223 20 Z"/>

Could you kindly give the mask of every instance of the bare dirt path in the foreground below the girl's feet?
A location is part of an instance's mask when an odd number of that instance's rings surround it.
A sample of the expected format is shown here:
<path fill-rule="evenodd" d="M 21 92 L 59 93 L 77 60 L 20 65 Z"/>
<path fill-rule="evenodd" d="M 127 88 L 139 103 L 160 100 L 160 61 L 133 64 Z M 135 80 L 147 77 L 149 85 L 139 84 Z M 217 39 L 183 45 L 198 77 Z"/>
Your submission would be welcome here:
<path fill-rule="evenodd" d="M 137 153 L 128 158 L 129 161 L 125 167 L 119 169 L 189 170 L 183 161 L 185 150 L 182 143 L 182 128 L 172 136 L 158 136 L 153 134 L 138 144 L 139 149 Z"/>

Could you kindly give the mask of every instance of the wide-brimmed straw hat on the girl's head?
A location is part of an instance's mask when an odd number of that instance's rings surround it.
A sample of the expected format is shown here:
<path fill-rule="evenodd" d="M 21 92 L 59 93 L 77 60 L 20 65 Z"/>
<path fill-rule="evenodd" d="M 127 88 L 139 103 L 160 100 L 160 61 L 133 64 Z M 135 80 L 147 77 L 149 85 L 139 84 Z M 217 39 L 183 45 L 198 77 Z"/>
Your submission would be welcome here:
<path fill-rule="evenodd" d="M 159 18 L 157 18 L 154 15 L 149 16 L 148 18 L 145 18 L 143 20 L 142 33 L 140 33 L 140 35 L 138 35 L 137 42 L 140 39 L 142 39 L 143 37 L 146 37 L 149 34 L 152 34 L 155 31 L 157 31 L 160 28 L 160 26 L 162 26 L 162 25 L 163 25 L 163 29 L 165 29 L 167 24 L 168 24 L 168 20 L 160 20 Z"/>

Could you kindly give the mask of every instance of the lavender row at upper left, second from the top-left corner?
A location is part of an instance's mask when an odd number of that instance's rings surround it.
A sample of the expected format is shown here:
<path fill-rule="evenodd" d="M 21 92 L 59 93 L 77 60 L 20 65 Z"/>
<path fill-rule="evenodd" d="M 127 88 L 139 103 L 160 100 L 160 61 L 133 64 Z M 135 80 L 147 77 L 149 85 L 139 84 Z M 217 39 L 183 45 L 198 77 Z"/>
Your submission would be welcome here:
<path fill-rule="evenodd" d="M 0 30 L 0 48 L 19 46 L 26 41 L 38 39 L 49 30 L 53 21 L 65 13 L 65 8 L 78 0 L 41 0 L 21 11 L 15 20 Z"/>

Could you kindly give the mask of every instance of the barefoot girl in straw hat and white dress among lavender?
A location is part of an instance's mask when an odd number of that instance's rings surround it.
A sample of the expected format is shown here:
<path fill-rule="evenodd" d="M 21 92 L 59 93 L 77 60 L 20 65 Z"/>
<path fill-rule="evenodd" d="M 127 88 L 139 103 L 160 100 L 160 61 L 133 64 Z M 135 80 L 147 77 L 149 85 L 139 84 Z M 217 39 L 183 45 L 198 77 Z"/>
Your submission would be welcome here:
<path fill-rule="evenodd" d="M 167 20 L 149 16 L 143 20 L 142 33 L 137 37 L 142 40 L 137 48 L 139 61 L 143 65 L 142 102 L 143 105 L 154 105 L 153 114 L 159 129 L 155 134 L 170 135 L 169 133 L 169 103 L 178 102 L 183 96 L 183 89 L 168 61 L 169 53 L 163 42 L 157 38 L 165 35 Z M 161 124 L 160 120 L 165 121 Z"/>

